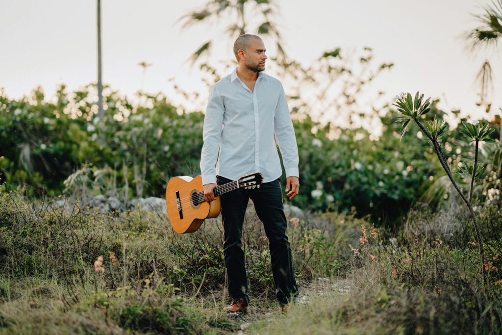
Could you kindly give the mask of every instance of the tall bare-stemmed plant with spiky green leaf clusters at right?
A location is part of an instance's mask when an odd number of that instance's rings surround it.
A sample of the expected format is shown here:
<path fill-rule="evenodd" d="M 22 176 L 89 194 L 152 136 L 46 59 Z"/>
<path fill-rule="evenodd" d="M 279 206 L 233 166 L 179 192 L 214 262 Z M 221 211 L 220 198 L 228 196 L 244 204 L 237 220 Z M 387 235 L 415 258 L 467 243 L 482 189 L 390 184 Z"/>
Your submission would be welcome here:
<path fill-rule="evenodd" d="M 425 115 L 430 111 L 430 98 L 424 100 L 424 94 L 417 92 L 415 94 L 415 98 L 412 97 L 410 93 L 401 93 L 396 101 L 394 102 L 394 106 L 397 107 L 397 110 L 400 113 L 398 117 L 398 122 L 401 122 L 403 125 L 401 127 L 401 138 L 406 134 L 410 124 L 412 122 L 416 123 L 420 130 L 425 134 L 425 136 L 431 141 L 434 151 L 443 167 L 446 175 L 450 179 L 453 187 L 457 191 L 458 195 L 465 203 L 467 209 L 469 210 L 469 215 L 472 220 L 472 224 L 474 225 L 474 230 L 476 232 L 476 239 L 479 247 L 479 256 L 481 260 L 481 272 L 483 275 L 483 283 L 487 282 L 487 274 L 486 274 L 486 261 L 484 256 L 484 248 L 483 241 L 481 238 L 481 234 L 479 231 L 479 225 L 476 219 L 476 215 L 472 208 L 472 189 L 474 185 L 474 179 L 478 174 L 477 168 L 477 158 L 478 158 L 478 150 L 479 150 L 479 142 L 494 142 L 493 139 L 490 138 L 490 134 L 493 133 L 493 129 L 488 129 L 488 125 L 481 126 L 479 122 L 474 123 L 462 123 L 462 127 L 460 132 L 466 136 L 468 136 L 472 142 L 474 143 L 474 161 L 470 166 L 470 169 L 467 169 L 466 172 L 470 173 L 470 187 L 468 195 L 465 196 L 458 183 L 453 178 L 453 174 L 451 172 L 450 165 L 448 163 L 448 159 L 444 155 L 444 152 L 441 148 L 441 144 L 439 140 L 442 136 L 444 136 L 447 132 L 447 126 L 444 120 L 436 119 L 433 120 L 425 120 Z"/>

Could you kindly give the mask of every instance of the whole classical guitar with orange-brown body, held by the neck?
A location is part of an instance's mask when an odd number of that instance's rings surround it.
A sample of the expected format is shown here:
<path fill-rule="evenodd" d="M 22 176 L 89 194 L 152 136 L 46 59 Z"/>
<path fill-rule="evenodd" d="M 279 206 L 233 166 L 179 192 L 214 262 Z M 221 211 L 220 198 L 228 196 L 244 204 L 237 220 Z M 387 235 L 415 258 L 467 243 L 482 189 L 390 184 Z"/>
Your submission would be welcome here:
<path fill-rule="evenodd" d="M 167 183 L 167 215 L 174 231 L 179 234 L 193 233 L 204 219 L 218 216 L 221 209 L 219 196 L 237 188 L 260 187 L 263 175 L 259 172 L 242 176 L 214 188 L 216 199 L 207 202 L 204 198 L 202 177 L 173 177 Z"/>

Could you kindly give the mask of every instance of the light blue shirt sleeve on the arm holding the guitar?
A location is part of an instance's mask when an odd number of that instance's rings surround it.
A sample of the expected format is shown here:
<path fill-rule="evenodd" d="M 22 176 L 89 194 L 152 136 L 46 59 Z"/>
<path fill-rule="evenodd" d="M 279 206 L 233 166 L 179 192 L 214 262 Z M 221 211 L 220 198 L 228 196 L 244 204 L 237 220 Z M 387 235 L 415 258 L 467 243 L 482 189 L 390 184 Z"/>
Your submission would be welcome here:
<path fill-rule="evenodd" d="M 200 155 L 200 171 L 203 185 L 216 183 L 216 160 L 221 142 L 224 112 L 223 99 L 219 95 L 216 86 L 213 85 L 209 91 L 204 128 L 202 130 L 204 144 Z"/>

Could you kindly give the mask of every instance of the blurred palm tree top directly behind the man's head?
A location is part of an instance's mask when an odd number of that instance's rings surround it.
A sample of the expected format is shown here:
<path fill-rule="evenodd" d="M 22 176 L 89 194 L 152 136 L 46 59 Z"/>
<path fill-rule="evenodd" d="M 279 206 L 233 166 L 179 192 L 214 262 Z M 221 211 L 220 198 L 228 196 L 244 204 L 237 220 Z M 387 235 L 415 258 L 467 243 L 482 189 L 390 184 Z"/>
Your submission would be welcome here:
<path fill-rule="evenodd" d="M 254 32 L 261 36 L 270 36 L 274 39 L 278 51 L 278 58 L 285 59 L 286 54 L 282 45 L 282 37 L 277 26 L 272 22 L 277 10 L 276 0 L 209 0 L 201 10 L 195 10 L 182 16 L 182 29 L 189 28 L 198 23 L 216 21 L 219 18 L 236 18 L 236 22 L 228 21 L 224 34 L 230 39 L 239 35 Z M 260 24 L 255 30 L 250 30 L 249 16 Z M 212 40 L 204 42 L 190 56 L 192 65 L 203 55 L 208 55 L 211 50 Z"/>

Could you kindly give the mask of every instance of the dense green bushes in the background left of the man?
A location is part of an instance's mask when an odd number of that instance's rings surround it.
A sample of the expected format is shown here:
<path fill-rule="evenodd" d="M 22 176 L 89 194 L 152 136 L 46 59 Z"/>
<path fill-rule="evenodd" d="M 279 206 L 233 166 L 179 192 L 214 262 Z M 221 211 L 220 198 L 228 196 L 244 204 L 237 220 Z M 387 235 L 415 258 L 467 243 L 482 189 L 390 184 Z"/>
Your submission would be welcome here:
<path fill-rule="evenodd" d="M 76 181 L 63 185 L 65 179 L 84 169 L 85 180 L 107 176 L 106 191 L 121 191 L 127 199 L 162 194 L 171 176 L 195 174 L 201 113 L 180 115 L 162 94 L 141 95 L 143 103 L 133 107 L 109 88 L 104 93 L 106 116 L 99 122 L 92 118 L 92 86 L 68 94 L 63 85 L 55 103 L 45 100 L 40 88 L 20 100 L 0 95 L 2 182 L 9 189 L 26 185 L 54 196 Z"/>

